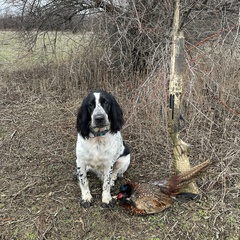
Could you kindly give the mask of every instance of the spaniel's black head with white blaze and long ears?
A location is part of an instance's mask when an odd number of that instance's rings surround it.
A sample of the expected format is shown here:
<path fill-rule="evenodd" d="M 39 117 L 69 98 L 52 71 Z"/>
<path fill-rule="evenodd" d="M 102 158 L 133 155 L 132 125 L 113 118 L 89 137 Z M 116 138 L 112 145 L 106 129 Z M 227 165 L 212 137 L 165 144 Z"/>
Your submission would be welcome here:
<path fill-rule="evenodd" d="M 123 113 L 116 99 L 105 91 L 95 91 L 82 102 L 77 116 L 77 131 L 84 138 L 89 137 L 90 130 L 116 133 L 123 122 Z"/>

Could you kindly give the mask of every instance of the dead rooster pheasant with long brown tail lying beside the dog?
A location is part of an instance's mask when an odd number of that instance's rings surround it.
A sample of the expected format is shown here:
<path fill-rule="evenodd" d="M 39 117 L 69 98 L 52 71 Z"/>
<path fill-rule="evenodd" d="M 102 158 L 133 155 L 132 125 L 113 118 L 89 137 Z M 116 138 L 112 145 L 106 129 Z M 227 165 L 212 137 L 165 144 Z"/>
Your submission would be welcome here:
<path fill-rule="evenodd" d="M 197 194 L 180 192 L 181 187 L 193 181 L 210 164 L 207 160 L 186 172 L 169 179 L 132 183 L 130 180 L 120 187 L 116 196 L 119 205 L 135 214 L 154 214 L 171 207 L 177 198 L 196 199 Z"/>

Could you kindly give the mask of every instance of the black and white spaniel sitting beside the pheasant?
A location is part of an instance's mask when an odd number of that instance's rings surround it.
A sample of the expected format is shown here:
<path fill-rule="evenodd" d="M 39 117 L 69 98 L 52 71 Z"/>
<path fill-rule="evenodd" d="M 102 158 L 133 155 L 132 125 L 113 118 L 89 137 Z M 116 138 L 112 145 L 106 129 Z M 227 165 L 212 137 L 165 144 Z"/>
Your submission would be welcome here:
<path fill-rule="evenodd" d="M 112 204 L 110 189 L 130 164 L 130 150 L 120 133 L 123 122 L 122 110 L 111 94 L 95 91 L 83 100 L 77 116 L 76 146 L 83 207 L 89 207 L 92 202 L 87 179 L 89 170 L 103 181 L 102 206 Z"/>

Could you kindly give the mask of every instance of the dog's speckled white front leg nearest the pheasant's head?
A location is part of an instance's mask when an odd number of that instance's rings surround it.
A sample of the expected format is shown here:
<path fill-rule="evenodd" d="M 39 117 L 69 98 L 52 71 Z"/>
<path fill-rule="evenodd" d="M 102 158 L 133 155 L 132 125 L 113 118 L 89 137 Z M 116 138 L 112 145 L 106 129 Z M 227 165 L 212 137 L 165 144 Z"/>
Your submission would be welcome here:
<path fill-rule="evenodd" d="M 103 175 L 103 192 L 102 192 L 102 206 L 109 208 L 113 206 L 111 190 L 111 177 L 112 177 L 113 165 L 105 167 Z"/>

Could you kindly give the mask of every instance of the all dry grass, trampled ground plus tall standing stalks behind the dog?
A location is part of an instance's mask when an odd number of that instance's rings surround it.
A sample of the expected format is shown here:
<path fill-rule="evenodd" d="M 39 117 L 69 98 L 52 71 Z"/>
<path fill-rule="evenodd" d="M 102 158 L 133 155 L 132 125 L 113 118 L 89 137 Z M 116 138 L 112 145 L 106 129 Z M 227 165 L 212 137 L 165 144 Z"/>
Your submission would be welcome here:
<path fill-rule="evenodd" d="M 206 55 L 200 58 L 203 52 Z M 90 184 L 95 204 L 80 208 L 80 190 L 72 181 L 75 118 L 88 90 L 101 86 L 111 91 L 123 107 L 123 135 L 132 150 L 126 177 L 147 181 L 170 175 L 164 67 L 145 77 L 118 76 L 118 81 L 104 66 L 99 69 L 97 58 L 86 60 L 86 68 L 79 59 L 47 70 L 4 72 L 0 239 L 239 239 L 239 55 L 219 57 L 219 52 L 205 49 L 194 54 L 196 61 L 189 62 L 185 75 L 182 112 L 187 122 L 181 136 L 192 146 L 193 165 L 207 158 L 214 164 L 197 182 L 200 200 L 176 202 L 171 209 L 146 217 L 131 216 L 118 206 L 101 209 L 101 183 L 94 176 Z"/>

